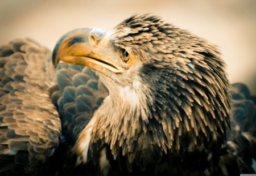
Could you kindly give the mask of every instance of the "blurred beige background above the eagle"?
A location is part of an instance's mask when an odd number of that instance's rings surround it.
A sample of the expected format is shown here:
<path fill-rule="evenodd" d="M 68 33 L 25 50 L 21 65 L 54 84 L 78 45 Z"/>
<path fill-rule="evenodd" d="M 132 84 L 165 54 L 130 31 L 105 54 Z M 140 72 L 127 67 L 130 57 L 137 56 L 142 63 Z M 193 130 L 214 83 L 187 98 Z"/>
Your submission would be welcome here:
<path fill-rule="evenodd" d="M 52 50 L 72 29 L 112 29 L 148 12 L 218 45 L 230 82 L 256 93 L 255 0 L 0 0 L 0 45 L 30 37 Z"/>

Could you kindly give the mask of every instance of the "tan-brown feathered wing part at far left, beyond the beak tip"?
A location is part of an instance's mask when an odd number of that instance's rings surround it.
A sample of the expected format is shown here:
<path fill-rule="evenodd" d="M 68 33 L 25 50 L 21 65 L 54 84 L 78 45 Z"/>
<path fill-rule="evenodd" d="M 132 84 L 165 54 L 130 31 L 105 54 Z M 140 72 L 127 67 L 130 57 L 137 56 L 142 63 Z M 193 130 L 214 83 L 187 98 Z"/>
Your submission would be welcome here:
<path fill-rule="evenodd" d="M 61 133 L 51 52 L 31 40 L 0 48 L 0 175 L 37 174 Z"/>

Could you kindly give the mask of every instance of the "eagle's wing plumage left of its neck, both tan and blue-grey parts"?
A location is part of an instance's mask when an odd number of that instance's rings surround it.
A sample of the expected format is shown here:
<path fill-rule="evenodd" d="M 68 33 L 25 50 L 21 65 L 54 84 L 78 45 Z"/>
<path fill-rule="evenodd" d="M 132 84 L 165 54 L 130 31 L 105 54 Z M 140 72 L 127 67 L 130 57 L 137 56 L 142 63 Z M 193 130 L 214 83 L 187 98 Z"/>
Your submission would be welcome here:
<path fill-rule="evenodd" d="M 89 68 L 31 40 L 0 48 L 0 175 L 57 174 L 108 91 Z M 72 169 L 72 168 L 70 168 Z"/>

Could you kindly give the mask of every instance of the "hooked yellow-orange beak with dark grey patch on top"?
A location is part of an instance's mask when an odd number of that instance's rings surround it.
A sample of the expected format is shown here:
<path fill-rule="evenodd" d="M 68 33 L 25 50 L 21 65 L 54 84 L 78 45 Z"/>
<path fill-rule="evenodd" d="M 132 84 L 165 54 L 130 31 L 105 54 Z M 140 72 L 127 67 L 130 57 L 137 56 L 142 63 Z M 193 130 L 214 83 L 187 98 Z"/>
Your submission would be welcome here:
<path fill-rule="evenodd" d="M 52 63 L 56 68 L 60 61 L 87 66 L 93 70 L 104 72 L 105 69 L 116 74 L 124 70 L 106 54 L 108 48 L 100 42 L 108 31 L 94 28 L 81 28 L 66 33 L 57 41 L 53 50 Z"/>

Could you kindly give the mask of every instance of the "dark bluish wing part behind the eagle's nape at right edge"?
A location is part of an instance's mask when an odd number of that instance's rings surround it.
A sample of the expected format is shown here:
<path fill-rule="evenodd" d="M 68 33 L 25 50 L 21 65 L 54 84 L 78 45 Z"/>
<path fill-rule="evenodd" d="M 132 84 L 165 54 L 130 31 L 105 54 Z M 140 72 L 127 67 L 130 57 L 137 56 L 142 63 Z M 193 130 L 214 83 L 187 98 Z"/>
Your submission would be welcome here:
<path fill-rule="evenodd" d="M 238 164 L 242 173 L 253 173 L 256 168 L 253 171 L 250 167 L 256 160 L 256 102 L 245 84 L 233 84 L 230 92 L 232 116 L 228 147 L 241 158 Z"/>

